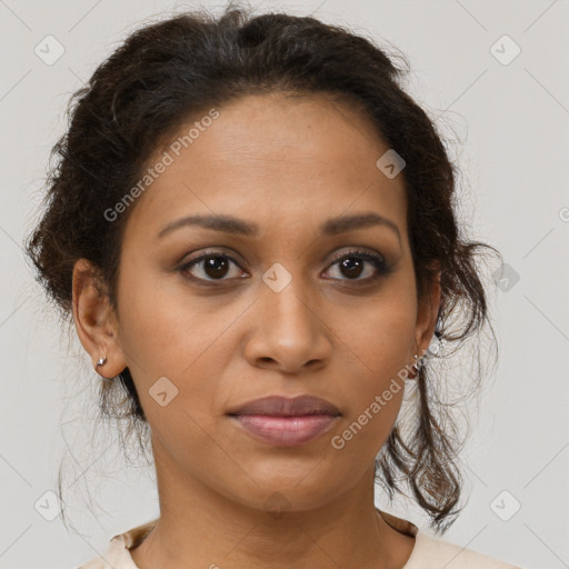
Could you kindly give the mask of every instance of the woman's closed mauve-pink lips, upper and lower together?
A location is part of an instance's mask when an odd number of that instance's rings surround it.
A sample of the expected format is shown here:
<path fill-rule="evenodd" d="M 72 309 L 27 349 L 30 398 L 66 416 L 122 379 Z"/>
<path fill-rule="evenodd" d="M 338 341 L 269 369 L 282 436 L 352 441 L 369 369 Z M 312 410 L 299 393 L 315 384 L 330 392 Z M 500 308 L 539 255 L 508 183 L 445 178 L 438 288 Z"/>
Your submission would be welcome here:
<path fill-rule="evenodd" d="M 305 395 L 269 396 L 228 412 L 257 440 L 279 447 L 307 445 L 330 430 L 341 416 L 329 401 Z"/>

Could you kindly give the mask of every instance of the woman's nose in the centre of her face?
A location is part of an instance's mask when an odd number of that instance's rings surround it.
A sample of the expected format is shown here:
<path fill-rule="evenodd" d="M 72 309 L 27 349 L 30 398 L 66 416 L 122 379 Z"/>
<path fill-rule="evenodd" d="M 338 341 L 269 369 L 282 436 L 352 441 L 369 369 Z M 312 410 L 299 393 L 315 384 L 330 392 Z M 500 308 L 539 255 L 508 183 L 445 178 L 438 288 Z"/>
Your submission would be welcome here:
<path fill-rule="evenodd" d="M 261 286 L 244 350 L 253 367 L 299 373 L 309 368 L 318 370 L 330 360 L 332 342 L 320 303 L 302 295 L 301 283 L 295 281 L 280 292 Z"/>

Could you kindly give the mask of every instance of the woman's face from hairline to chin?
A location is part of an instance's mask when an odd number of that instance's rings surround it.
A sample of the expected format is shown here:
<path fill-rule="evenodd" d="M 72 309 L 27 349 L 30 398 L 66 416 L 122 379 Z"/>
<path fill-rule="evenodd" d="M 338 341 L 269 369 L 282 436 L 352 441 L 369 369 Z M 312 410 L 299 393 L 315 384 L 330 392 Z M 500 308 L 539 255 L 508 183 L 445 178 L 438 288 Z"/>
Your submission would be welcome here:
<path fill-rule="evenodd" d="M 438 292 L 418 306 L 402 174 L 376 164 L 389 147 L 366 119 L 322 96 L 217 110 L 187 148 L 174 136 L 156 153 L 149 167 L 168 166 L 129 206 L 112 363 L 132 373 L 159 478 L 253 508 L 274 496 L 316 508 L 372 471 Z M 228 415 L 270 395 L 317 396 L 340 416 L 279 443 Z"/>

